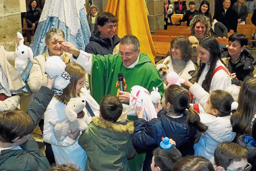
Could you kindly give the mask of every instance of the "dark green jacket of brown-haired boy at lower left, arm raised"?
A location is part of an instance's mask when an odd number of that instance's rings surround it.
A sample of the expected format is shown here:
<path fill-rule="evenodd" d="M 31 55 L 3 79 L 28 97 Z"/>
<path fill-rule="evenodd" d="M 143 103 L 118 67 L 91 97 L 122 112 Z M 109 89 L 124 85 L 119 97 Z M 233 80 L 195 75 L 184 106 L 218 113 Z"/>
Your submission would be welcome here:
<path fill-rule="evenodd" d="M 27 113 L 37 126 L 53 97 L 53 92 L 42 86 L 35 99 L 29 104 Z M 0 154 L 0 170 L 50 170 L 51 166 L 39 149 L 36 140 L 29 135 L 28 141 L 20 145 L 19 150 L 2 150 Z"/>

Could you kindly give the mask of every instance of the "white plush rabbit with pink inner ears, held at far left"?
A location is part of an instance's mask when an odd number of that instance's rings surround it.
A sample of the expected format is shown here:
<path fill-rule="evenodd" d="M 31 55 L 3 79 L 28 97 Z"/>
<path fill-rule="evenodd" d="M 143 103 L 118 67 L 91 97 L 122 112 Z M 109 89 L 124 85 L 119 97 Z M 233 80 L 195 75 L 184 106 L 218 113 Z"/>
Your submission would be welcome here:
<path fill-rule="evenodd" d="M 15 50 L 17 58 L 15 59 L 15 69 L 25 69 L 28 65 L 28 58 L 30 61 L 33 60 L 33 52 L 30 47 L 24 45 L 24 38 L 20 32 L 17 32 L 17 38 L 21 39 L 19 41 L 19 46 Z"/>

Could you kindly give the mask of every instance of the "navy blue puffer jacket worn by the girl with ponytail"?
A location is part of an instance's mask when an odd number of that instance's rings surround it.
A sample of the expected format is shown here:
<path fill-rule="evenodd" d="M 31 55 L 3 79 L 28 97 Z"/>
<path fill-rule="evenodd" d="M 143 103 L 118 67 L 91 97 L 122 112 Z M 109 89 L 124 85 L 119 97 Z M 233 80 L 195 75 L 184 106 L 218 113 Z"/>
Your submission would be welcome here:
<path fill-rule="evenodd" d="M 194 155 L 194 142 L 197 128 L 189 129 L 186 124 L 188 112 L 185 111 L 182 117 L 172 118 L 166 116 L 167 112 L 159 111 L 158 118 L 146 122 L 144 119 L 134 121 L 135 132 L 133 134 L 133 146 L 138 152 L 146 152 L 143 163 L 143 171 L 151 170 L 152 151 L 160 146 L 162 137 L 172 138 L 176 142 L 176 148 L 182 156 Z"/>

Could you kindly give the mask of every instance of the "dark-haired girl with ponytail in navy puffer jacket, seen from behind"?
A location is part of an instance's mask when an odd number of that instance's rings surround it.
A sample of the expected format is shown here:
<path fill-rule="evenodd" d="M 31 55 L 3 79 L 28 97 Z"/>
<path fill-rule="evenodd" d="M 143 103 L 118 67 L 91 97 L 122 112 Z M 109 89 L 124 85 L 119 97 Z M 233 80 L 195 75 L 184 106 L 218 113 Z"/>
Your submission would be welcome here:
<path fill-rule="evenodd" d="M 136 110 L 138 119 L 134 121 L 135 132 L 133 145 L 138 152 L 146 152 L 143 171 L 150 170 L 152 151 L 160 146 L 162 137 L 171 138 L 182 156 L 194 155 L 194 143 L 200 139 L 201 133 L 207 130 L 202 124 L 198 113 L 190 107 L 189 91 L 178 85 L 166 88 L 158 104 L 158 118 L 146 122 L 144 110 Z M 188 110 L 186 110 L 188 109 Z"/>

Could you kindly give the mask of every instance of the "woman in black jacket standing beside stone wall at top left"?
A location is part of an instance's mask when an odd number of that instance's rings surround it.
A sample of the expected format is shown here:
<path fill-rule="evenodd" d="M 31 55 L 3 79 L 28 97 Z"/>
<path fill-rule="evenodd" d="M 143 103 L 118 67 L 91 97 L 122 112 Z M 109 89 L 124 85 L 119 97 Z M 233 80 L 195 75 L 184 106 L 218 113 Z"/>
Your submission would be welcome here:
<path fill-rule="evenodd" d="M 27 12 L 25 14 L 25 20 L 27 23 L 28 28 L 35 29 L 36 31 L 40 16 L 41 16 L 42 10 L 38 7 L 38 1 L 37 0 L 31 0 L 29 3 L 29 7 L 27 8 Z M 32 31 L 27 31 L 27 38 L 28 41 L 31 42 L 31 35 L 33 35 Z"/>

